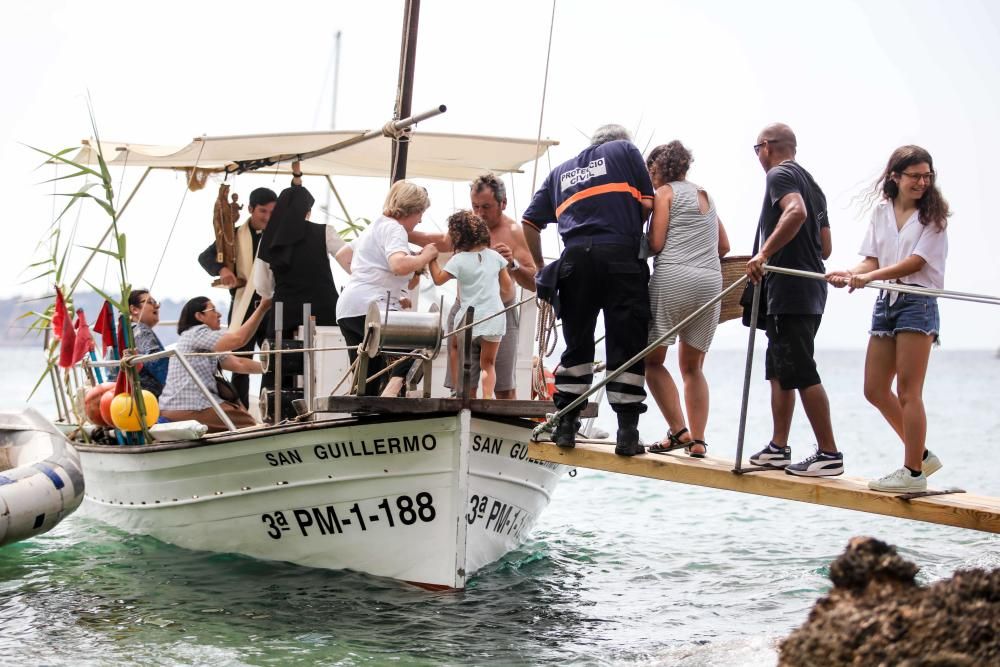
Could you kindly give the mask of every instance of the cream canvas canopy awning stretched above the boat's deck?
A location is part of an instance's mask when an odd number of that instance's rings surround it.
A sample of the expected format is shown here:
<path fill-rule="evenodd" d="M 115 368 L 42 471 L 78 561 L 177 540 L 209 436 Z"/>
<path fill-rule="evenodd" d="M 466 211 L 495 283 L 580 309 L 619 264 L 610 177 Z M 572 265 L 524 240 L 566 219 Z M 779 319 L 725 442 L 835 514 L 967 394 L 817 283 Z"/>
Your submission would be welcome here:
<path fill-rule="evenodd" d="M 152 167 L 233 171 L 239 163 L 289 159 L 318 151 L 364 134 L 363 131 L 295 132 L 235 137 L 198 137 L 187 146 L 153 146 L 102 141 L 109 166 Z M 543 139 L 512 139 L 463 134 L 410 132 L 406 174 L 410 178 L 471 180 L 477 175 L 519 172 L 521 167 L 544 155 L 559 142 Z M 69 159 L 85 165 L 97 164 L 96 141 L 84 140 Z M 392 140 L 377 136 L 351 146 L 309 158 L 302 171 L 317 176 L 380 176 L 388 178 Z M 263 167 L 264 173 L 288 173 L 290 162 Z"/>

